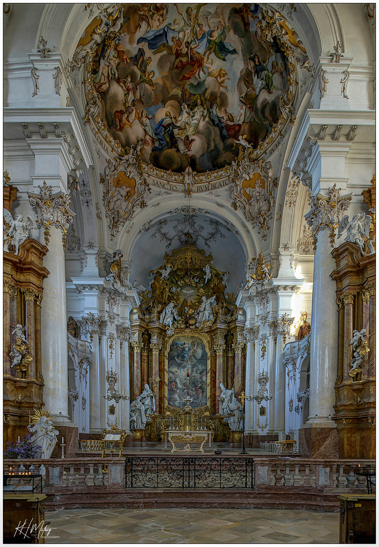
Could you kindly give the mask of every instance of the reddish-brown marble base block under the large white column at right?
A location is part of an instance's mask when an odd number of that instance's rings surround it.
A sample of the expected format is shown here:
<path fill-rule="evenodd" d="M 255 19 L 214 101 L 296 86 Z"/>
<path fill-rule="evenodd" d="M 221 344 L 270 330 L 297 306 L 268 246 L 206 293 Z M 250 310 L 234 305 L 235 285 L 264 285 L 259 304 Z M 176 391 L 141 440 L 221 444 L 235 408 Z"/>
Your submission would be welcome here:
<path fill-rule="evenodd" d="M 304 427 L 299 429 L 299 453 L 303 458 L 338 459 L 336 427 Z"/>

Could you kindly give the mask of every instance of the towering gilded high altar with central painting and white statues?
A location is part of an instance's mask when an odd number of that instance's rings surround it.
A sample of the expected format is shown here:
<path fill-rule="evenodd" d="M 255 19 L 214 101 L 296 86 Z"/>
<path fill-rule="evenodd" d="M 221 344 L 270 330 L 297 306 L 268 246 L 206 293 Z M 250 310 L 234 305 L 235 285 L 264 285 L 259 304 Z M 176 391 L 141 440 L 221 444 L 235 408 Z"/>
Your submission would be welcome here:
<path fill-rule="evenodd" d="M 131 313 L 133 445 L 171 442 L 173 451 L 178 443 L 180 451 L 183 444 L 203 451 L 211 441 L 239 446 L 245 312 L 229 292 L 229 272 L 184 236 L 185 245 L 165 253 L 150 272 L 150 290 Z M 223 403 L 226 394 L 233 410 Z M 146 403 L 152 395 L 154 410 L 150 399 Z"/>

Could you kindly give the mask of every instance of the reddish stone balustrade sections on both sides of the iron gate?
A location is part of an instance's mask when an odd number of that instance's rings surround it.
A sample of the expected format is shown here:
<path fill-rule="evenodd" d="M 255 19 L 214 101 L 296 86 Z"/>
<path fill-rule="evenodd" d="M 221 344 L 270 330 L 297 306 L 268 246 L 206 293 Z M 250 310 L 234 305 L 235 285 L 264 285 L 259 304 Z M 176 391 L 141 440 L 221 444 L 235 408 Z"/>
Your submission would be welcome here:
<path fill-rule="evenodd" d="M 302 492 L 321 488 L 330 493 L 357 492 L 356 488 L 366 489 L 366 478 L 357 474 L 358 465 L 375 469 L 374 460 L 363 459 L 305 459 L 281 457 L 253 457 L 255 487 L 270 491 L 283 487 L 300 487 Z M 67 491 L 74 496 L 75 492 L 91 493 L 91 488 L 102 490 L 125 489 L 125 458 L 88 457 L 64 459 L 4 459 L 4 473 L 9 469 L 15 473 L 8 479 L 8 484 L 27 484 L 28 475 L 19 475 L 21 465 L 28 471 L 33 464 L 34 472 L 43 476 L 43 492 L 50 499 Z M 21 468 L 22 469 L 22 468 Z M 21 473 L 24 469 L 21 470 Z M 22 483 L 23 481 L 23 483 Z M 374 488 L 373 488 L 374 492 Z M 77 507 L 80 507 L 78 505 Z"/>

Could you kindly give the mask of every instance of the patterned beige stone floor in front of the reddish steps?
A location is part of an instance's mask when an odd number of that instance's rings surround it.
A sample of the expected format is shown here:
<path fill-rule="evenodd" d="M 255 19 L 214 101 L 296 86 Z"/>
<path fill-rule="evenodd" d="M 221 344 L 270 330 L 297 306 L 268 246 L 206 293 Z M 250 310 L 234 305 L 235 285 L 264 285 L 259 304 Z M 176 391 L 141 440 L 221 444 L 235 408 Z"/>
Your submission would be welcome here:
<path fill-rule="evenodd" d="M 46 512 L 58 539 L 82 544 L 334 544 L 339 514 L 270 509 L 70 509 Z"/>

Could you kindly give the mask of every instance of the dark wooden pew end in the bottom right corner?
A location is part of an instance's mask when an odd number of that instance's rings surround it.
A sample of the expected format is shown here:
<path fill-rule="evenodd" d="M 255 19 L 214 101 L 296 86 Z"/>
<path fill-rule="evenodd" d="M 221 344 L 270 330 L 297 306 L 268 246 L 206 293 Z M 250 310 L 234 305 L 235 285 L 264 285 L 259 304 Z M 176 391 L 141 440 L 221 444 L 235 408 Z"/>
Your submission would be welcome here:
<path fill-rule="evenodd" d="M 375 543 L 375 494 L 344 494 L 340 500 L 340 543 Z"/>

